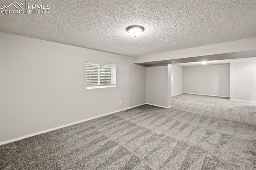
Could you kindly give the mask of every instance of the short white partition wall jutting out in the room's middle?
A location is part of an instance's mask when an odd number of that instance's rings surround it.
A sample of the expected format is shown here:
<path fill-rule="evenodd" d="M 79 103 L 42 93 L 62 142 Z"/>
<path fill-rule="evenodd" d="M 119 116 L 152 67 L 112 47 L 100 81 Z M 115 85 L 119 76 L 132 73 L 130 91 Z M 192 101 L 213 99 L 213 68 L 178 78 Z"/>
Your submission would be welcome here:
<path fill-rule="evenodd" d="M 169 107 L 167 64 L 146 67 L 146 103 Z"/>

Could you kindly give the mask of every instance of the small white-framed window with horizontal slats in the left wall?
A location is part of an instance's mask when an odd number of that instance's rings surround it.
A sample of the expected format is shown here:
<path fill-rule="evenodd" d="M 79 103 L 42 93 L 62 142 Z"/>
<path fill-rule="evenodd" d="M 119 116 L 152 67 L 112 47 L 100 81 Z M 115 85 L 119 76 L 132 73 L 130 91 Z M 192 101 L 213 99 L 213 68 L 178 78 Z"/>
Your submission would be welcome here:
<path fill-rule="evenodd" d="M 86 89 L 116 87 L 116 65 L 86 63 Z"/>

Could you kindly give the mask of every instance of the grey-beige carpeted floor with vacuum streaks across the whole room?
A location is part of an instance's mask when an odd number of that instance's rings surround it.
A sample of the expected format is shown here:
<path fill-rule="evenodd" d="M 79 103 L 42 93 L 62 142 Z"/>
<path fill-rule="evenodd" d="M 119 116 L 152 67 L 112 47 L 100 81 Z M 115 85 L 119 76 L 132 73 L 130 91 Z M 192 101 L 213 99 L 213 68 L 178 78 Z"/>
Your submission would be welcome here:
<path fill-rule="evenodd" d="M 182 94 L 0 146 L 0 169 L 256 169 L 256 105 Z"/>

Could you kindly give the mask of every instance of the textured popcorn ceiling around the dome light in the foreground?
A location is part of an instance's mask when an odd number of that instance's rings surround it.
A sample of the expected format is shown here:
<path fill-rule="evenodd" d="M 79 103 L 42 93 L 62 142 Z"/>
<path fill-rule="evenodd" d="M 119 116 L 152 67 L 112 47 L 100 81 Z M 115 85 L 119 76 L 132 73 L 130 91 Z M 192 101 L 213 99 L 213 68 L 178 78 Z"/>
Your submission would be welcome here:
<path fill-rule="evenodd" d="M 1 0 L 0 8 L 10 2 Z M 1 32 L 132 57 L 256 37 L 255 0 L 26 3 L 50 4 L 49 14 L 0 14 Z M 145 31 L 134 38 L 126 32 L 131 25 Z"/>

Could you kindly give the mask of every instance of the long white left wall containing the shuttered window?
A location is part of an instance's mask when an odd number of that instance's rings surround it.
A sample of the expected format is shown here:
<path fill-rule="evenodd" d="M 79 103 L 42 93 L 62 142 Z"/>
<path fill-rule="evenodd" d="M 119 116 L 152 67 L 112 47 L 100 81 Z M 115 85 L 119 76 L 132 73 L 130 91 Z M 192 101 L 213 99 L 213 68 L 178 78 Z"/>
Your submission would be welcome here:
<path fill-rule="evenodd" d="M 131 57 L 0 37 L 1 142 L 146 103 L 146 67 Z M 117 64 L 116 87 L 86 89 L 86 61 Z"/>

